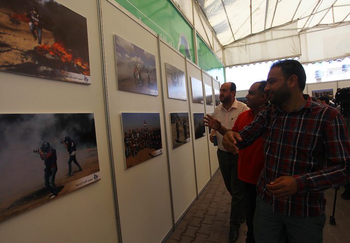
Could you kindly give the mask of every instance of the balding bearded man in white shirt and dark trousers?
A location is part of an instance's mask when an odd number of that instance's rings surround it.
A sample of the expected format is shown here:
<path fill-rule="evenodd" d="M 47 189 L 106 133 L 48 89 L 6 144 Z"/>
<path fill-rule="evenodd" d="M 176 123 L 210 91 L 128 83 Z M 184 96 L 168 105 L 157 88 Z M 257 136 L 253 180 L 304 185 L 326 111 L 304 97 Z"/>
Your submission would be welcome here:
<path fill-rule="evenodd" d="M 237 117 L 248 110 L 246 104 L 235 99 L 236 85 L 228 82 L 220 87 L 220 102 L 214 110 L 214 118 L 221 122 L 222 129 L 230 130 Z M 210 117 L 209 115 L 207 115 Z M 206 118 L 205 118 L 206 119 Z M 209 125 L 207 125 L 209 126 Z M 211 130 L 210 141 L 213 142 L 212 135 L 217 134 L 218 150 L 217 156 L 219 167 L 223 175 L 227 191 L 231 194 L 230 232 L 229 241 L 235 242 L 238 239 L 238 230 L 245 218 L 244 207 L 244 183 L 238 179 L 238 155 L 228 152 L 222 145 L 223 136 L 220 131 Z"/>

